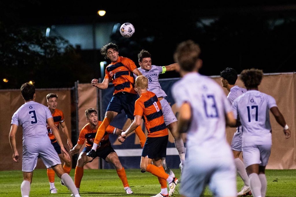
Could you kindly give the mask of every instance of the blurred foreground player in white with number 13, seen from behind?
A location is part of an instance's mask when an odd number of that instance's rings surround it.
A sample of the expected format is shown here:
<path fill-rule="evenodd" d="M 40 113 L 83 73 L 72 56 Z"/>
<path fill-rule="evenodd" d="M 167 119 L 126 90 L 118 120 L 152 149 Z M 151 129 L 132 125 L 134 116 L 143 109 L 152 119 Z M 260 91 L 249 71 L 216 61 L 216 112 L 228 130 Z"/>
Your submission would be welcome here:
<path fill-rule="evenodd" d="M 173 85 L 179 108 L 176 133 L 186 136 L 186 160 L 182 172 L 182 196 L 201 196 L 209 185 L 214 196 L 236 196 L 236 172 L 226 141 L 226 122 L 234 123 L 231 105 L 223 89 L 198 73 L 202 66 L 200 47 L 192 40 L 182 42 L 174 53 L 182 79 Z"/>

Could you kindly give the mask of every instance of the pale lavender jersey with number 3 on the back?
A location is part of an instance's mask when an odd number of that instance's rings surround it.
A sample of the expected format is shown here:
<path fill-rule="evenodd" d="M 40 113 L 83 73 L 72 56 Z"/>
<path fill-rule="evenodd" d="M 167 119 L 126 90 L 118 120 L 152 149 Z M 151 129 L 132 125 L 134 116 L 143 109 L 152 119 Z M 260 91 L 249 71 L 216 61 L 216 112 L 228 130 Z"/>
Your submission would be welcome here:
<path fill-rule="evenodd" d="M 22 145 L 49 143 L 46 120 L 52 118 L 49 109 L 38 102 L 23 104 L 12 116 L 11 124 L 22 126 Z"/>

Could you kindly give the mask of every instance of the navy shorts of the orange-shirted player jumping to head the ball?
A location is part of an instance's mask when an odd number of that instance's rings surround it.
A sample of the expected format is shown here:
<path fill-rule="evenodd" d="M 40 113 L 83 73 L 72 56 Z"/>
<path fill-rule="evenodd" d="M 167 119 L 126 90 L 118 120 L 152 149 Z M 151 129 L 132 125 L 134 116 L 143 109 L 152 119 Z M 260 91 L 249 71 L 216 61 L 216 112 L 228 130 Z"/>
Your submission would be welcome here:
<path fill-rule="evenodd" d="M 138 99 L 136 94 L 129 92 L 118 92 L 112 96 L 106 111 L 121 113 L 124 110 L 126 118 L 134 119 L 135 101 Z"/>

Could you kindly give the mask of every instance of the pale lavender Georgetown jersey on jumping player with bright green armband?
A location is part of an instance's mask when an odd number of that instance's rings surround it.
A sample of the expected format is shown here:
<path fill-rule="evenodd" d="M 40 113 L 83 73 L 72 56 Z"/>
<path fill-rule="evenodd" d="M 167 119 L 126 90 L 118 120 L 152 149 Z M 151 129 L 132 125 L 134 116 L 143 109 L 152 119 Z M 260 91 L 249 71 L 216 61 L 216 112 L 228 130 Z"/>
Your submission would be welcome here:
<path fill-rule="evenodd" d="M 161 66 L 152 65 L 149 71 L 145 69 L 138 68 L 139 71 L 148 78 L 148 91 L 153 92 L 157 97 L 167 97 L 165 91 L 161 89 L 161 86 L 158 81 L 158 75 L 163 72 L 163 68 Z M 134 74 L 135 77 L 137 77 Z"/>

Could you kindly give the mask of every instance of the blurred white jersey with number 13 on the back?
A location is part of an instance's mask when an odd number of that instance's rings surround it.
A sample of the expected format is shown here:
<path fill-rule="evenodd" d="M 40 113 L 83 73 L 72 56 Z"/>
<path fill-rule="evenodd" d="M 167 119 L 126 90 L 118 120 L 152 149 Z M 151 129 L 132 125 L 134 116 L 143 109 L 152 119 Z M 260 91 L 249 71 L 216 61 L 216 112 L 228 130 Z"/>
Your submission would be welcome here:
<path fill-rule="evenodd" d="M 173 85 L 172 92 L 178 107 L 188 102 L 192 108 L 187 150 L 232 159 L 225 136 L 225 114 L 231 111 L 231 105 L 223 89 L 213 79 L 189 73 Z"/>

